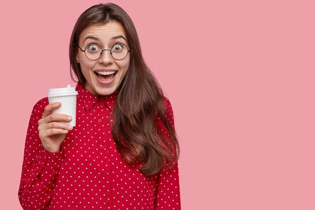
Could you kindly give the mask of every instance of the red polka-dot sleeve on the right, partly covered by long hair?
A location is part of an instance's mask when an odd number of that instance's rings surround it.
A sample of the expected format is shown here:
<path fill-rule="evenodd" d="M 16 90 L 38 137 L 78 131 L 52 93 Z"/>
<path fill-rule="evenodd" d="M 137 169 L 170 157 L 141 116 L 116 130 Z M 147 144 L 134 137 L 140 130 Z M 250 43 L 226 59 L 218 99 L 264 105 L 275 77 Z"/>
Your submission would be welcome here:
<path fill-rule="evenodd" d="M 168 123 L 171 123 L 174 127 L 172 105 L 166 98 L 165 108 Z M 176 163 L 173 168 L 163 170 L 159 175 L 157 175 L 154 209 L 181 209 L 178 163 Z"/>

